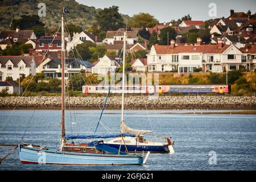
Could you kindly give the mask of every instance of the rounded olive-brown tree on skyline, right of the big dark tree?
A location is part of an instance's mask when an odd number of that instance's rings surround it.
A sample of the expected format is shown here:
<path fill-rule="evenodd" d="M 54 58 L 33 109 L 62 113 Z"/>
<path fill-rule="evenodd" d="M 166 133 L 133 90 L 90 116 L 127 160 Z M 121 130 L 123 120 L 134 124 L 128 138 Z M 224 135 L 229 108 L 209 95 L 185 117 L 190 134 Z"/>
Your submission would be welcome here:
<path fill-rule="evenodd" d="M 133 16 L 129 27 L 151 28 L 154 27 L 156 24 L 159 24 L 159 22 L 157 19 L 154 18 L 154 16 L 150 15 L 149 13 L 139 13 Z"/>

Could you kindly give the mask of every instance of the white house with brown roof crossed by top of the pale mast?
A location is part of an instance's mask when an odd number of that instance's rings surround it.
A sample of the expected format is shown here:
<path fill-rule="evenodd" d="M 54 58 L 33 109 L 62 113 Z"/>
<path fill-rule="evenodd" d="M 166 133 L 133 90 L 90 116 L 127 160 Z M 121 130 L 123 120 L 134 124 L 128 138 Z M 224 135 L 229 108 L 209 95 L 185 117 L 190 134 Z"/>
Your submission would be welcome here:
<path fill-rule="evenodd" d="M 127 44 L 135 44 L 138 41 L 138 31 L 127 31 Z M 106 44 L 122 44 L 123 43 L 123 31 L 107 31 L 106 38 L 102 41 Z"/>

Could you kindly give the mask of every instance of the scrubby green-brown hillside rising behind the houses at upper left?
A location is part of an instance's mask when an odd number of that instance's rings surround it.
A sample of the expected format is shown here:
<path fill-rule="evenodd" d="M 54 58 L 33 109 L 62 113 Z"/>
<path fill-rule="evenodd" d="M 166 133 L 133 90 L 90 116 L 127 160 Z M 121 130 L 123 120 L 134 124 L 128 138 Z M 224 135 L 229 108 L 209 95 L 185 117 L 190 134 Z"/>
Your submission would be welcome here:
<path fill-rule="evenodd" d="M 0 1 L 0 28 L 8 28 L 12 19 L 19 19 L 20 15 L 38 14 L 38 4 L 46 4 L 46 17 L 42 17 L 42 22 L 48 28 L 55 28 L 59 24 L 58 15 L 63 7 L 66 7 L 70 14 L 66 16 L 67 23 L 73 23 L 83 29 L 89 28 L 95 21 L 95 14 L 100 9 L 81 5 L 75 0 L 2 0 Z M 112 6 L 112 5 L 110 5 Z M 122 15 L 124 19 L 129 18 Z"/>

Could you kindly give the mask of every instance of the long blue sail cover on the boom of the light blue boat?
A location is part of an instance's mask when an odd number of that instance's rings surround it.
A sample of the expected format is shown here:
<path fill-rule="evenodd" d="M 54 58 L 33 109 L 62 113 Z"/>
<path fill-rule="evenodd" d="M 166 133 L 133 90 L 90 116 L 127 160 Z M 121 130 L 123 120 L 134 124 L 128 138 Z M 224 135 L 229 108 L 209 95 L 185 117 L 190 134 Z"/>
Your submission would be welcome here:
<path fill-rule="evenodd" d="M 122 134 L 124 137 L 135 137 L 134 134 Z M 65 139 L 71 140 L 71 139 L 92 139 L 92 138 L 115 138 L 115 137 L 120 137 L 121 134 L 109 134 L 109 135 L 66 135 Z"/>

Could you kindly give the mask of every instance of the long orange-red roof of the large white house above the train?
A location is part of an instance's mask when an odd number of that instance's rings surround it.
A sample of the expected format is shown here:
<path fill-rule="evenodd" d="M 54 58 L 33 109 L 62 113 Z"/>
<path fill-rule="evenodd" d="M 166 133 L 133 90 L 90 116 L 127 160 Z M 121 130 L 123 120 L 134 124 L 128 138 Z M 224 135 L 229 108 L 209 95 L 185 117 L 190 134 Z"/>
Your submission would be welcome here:
<path fill-rule="evenodd" d="M 171 48 L 171 46 L 159 46 L 155 45 L 155 51 L 157 54 L 175 54 L 181 52 L 188 53 L 223 53 L 226 49 L 228 49 L 230 45 L 224 45 L 221 49 L 218 48 L 218 45 L 200 45 L 200 46 L 176 46 Z"/>

